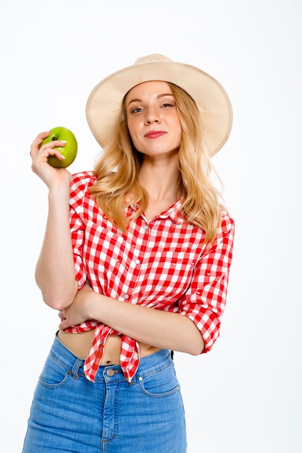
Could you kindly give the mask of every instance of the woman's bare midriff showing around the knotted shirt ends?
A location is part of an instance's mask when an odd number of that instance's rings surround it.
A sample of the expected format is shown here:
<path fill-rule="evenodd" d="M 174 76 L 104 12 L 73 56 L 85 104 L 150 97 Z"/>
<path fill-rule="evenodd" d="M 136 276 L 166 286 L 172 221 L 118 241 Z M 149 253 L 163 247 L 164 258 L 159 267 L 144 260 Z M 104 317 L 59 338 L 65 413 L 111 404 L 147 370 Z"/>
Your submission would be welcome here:
<path fill-rule="evenodd" d="M 59 330 L 58 339 L 77 357 L 86 359 L 91 348 L 94 330 L 89 330 L 82 333 L 69 333 Z M 111 365 L 119 363 L 121 351 L 121 335 L 108 335 L 105 341 L 104 354 L 102 357 L 102 365 Z M 149 346 L 139 342 L 140 357 L 153 354 L 159 351 L 160 348 Z"/>

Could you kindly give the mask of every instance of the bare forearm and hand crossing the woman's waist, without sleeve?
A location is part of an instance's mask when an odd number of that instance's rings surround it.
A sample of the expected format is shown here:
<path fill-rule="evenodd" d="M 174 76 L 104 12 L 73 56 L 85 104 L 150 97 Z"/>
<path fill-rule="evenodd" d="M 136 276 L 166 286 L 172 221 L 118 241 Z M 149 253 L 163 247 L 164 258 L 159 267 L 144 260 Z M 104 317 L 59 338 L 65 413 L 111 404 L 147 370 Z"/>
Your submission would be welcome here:
<path fill-rule="evenodd" d="M 186 316 L 112 299 L 94 292 L 87 284 L 75 296 L 71 306 L 62 310 L 59 316 L 61 330 L 87 319 L 95 319 L 155 347 L 192 355 L 200 354 L 204 347 L 199 330 Z"/>

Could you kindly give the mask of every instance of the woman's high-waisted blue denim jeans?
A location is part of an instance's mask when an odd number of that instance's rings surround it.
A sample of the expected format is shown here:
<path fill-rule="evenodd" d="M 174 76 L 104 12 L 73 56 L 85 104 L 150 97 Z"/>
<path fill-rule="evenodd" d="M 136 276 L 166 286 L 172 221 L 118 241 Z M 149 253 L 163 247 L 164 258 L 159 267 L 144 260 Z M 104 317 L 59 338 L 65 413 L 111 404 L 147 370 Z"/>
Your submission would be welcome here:
<path fill-rule="evenodd" d="M 185 453 L 180 386 L 167 349 L 142 357 L 128 384 L 120 365 L 84 360 L 55 336 L 31 406 L 23 453 Z"/>

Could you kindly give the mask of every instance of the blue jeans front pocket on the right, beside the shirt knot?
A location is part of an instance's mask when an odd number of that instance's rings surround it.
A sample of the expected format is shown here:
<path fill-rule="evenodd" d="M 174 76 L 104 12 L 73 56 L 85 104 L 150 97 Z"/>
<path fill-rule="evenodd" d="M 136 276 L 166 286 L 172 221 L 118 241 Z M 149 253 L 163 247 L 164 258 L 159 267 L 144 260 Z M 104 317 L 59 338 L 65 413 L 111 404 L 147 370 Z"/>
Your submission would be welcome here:
<path fill-rule="evenodd" d="M 173 362 L 154 373 L 138 378 L 140 390 L 149 397 L 168 397 L 179 390 Z"/>

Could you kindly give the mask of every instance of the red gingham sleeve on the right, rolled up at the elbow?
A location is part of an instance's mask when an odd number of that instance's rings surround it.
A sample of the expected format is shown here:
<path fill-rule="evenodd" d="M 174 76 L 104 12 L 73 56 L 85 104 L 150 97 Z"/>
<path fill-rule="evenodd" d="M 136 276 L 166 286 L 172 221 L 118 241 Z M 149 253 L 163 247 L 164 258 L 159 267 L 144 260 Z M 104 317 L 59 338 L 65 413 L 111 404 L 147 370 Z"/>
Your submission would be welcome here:
<path fill-rule="evenodd" d="M 210 351 L 219 336 L 232 262 L 234 231 L 233 218 L 224 214 L 214 243 L 199 259 L 191 285 L 179 300 L 179 313 L 191 319 L 203 337 L 204 349 L 201 353 Z"/>

